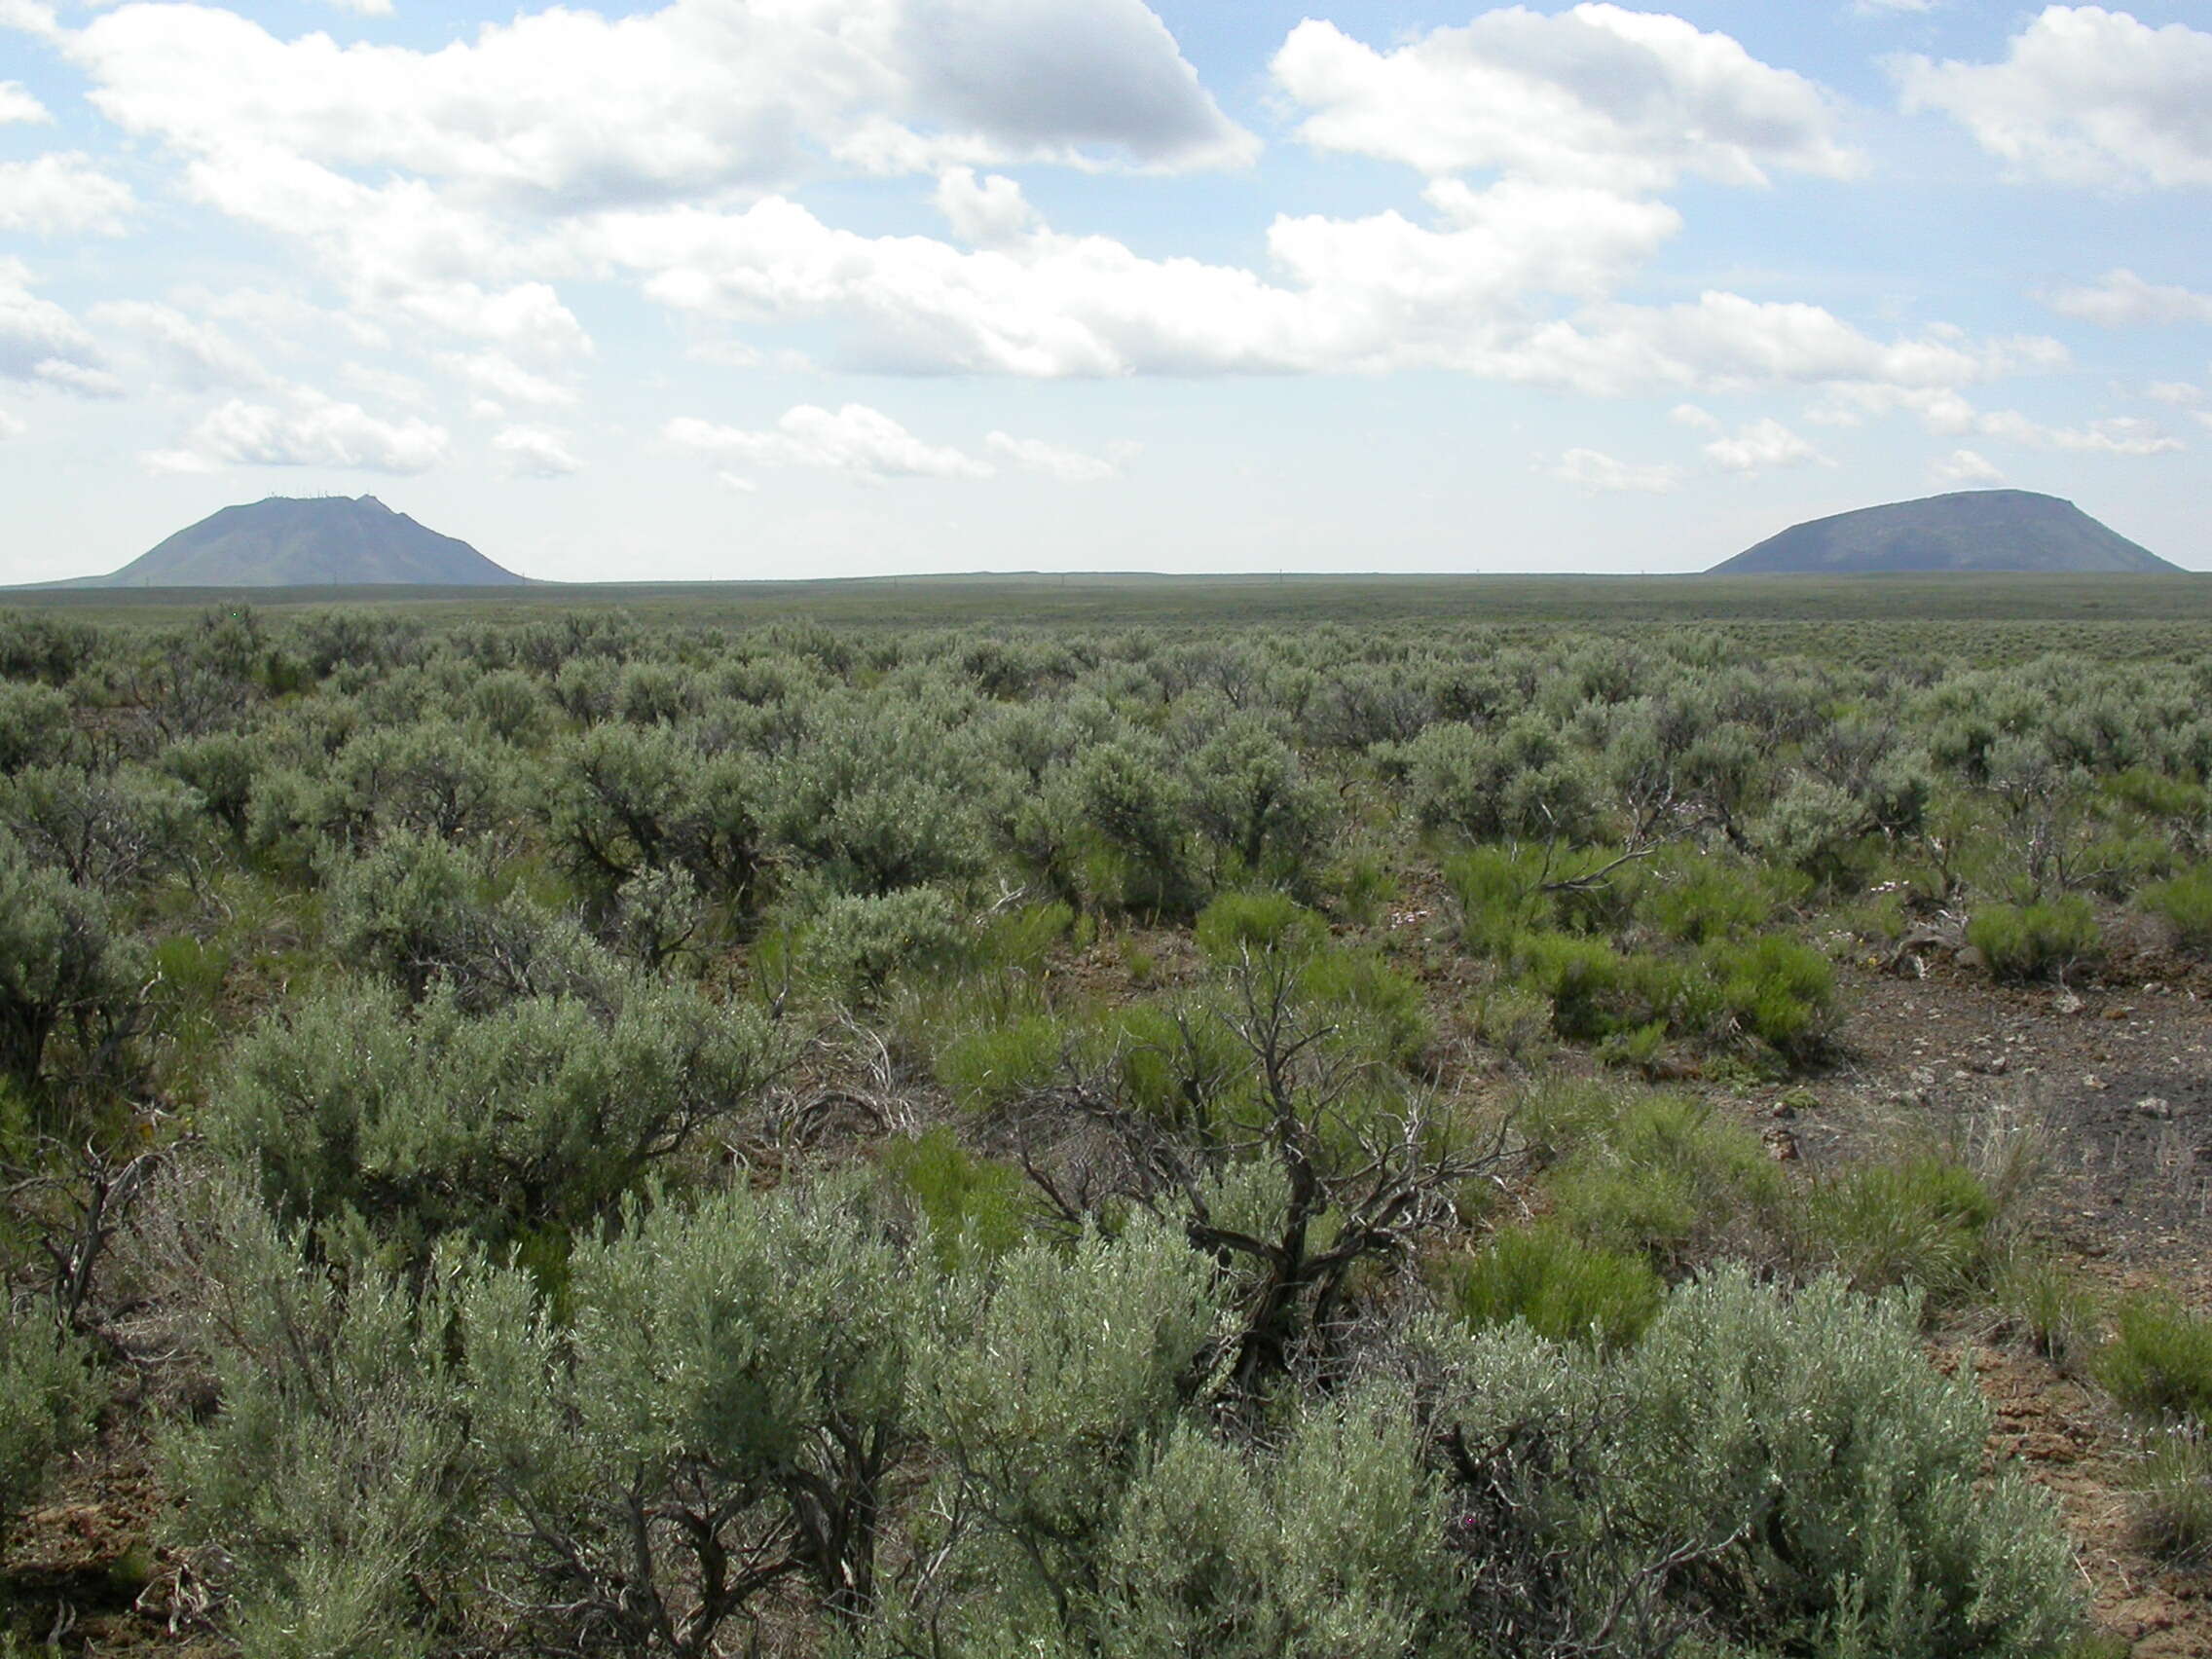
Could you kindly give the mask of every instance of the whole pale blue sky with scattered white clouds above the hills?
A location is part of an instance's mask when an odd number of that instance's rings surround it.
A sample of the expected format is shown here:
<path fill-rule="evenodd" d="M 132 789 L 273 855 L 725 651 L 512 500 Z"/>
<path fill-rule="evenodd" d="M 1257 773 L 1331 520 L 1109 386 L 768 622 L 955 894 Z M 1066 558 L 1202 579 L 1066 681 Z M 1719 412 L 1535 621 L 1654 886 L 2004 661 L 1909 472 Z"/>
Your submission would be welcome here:
<path fill-rule="evenodd" d="M 0 0 L 0 582 L 2212 568 L 2212 0 Z"/>

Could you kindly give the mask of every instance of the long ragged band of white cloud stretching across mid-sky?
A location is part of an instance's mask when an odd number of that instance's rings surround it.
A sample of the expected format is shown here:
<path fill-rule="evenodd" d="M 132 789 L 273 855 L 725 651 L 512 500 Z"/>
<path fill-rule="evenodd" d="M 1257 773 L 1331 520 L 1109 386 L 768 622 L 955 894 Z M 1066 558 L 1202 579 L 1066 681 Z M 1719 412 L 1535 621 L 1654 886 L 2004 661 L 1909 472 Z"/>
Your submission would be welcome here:
<path fill-rule="evenodd" d="M 1871 338 L 1816 305 L 1710 292 L 1648 307 L 1604 299 L 1679 226 L 1672 208 L 1582 186 L 1440 181 L 1436 223 L 1281 217 L 1279 279 L 1148 259 L 1051 228 L 1000 248 L 860 237 L 781 197 L 743 212 L 604 215 L 591 246 L 650 296 L 741 325 L 841 325 L 843 363 L 907 374 L 1298 374 L 1442 367 L 1522 385 L 1962 385 L 2064 358 L 2053 341 L 1955 330 Z M 1557 314 L 1546 299 L 1584 301 Z"/>

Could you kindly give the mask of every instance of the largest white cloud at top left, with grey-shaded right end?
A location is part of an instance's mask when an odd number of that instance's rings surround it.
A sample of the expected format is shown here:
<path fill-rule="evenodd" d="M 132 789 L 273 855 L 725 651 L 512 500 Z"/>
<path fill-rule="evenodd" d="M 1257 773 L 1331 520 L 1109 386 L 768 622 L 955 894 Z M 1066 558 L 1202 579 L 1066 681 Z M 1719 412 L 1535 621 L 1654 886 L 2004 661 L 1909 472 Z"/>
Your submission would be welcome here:
<path fill-rule="evenodd" d="M 1254 148 L 1139 0 L 546 7 L 438 51 L 126 4 L 66 51 L 108 119 L 204 157 L 276 148 L 568 208 L 776 188 L 825 153 L 883 173 Z"/>

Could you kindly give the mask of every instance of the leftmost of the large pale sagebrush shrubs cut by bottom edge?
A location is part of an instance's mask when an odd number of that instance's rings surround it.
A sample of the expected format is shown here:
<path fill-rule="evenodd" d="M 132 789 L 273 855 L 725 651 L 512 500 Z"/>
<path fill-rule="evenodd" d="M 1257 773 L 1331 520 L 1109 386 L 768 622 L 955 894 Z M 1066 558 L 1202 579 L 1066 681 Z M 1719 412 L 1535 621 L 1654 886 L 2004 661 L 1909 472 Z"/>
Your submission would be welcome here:
<path fill-rule="evenodd" d="M 445 1343 L 467 1267 L 420 1276 L 327 1230 L 279 1228 L 212 1181 L 195 1223 L 199 1343 L 219 1409 L 164 1436 L 177 1542 L 208 1551 L 246 1659 L 427 1659 L 469 1604 L 473 1504 Z"/>

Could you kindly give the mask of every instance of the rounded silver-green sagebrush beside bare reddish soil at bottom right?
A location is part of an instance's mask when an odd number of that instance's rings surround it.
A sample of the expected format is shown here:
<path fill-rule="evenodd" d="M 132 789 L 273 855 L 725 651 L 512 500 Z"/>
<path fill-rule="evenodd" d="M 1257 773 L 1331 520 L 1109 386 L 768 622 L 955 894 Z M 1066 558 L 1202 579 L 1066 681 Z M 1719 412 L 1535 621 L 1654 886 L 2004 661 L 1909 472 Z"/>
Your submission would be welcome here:
<path fill-rule="evenodd" d="M 2075 1632 L 2055 1506 L 1986 1478 L 1989 1407 L 1927 1363 L 1916 1298 L 1723 1270 L 1674 1292 L 1624 1380 L 1652 1513 L 1703 1500 L 1705 1535 L 1734 1540 L 1683 1586 L 1725 1635 L 2037 1655 Z"/>

